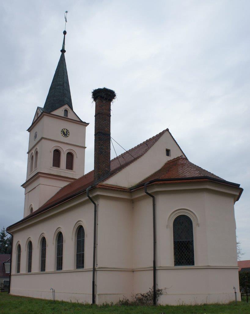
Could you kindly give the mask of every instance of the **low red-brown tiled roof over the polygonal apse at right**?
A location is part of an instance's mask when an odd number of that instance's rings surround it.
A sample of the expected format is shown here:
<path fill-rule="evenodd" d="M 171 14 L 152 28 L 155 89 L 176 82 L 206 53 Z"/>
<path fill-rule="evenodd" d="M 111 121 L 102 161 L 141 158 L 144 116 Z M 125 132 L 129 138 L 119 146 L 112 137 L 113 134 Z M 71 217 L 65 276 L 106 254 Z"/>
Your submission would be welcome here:
<path fill-rule="evenodd" d="M 138 185 L 155 179 L 174 179 L 201 176 L 209 176 L 215 179 L 223 180 L 213 173 L 192 164 L 185 157 L 179 156 L 167 161 L 159 170 L 142 180 L 138 183 Z"/>

